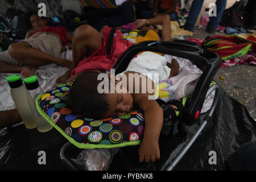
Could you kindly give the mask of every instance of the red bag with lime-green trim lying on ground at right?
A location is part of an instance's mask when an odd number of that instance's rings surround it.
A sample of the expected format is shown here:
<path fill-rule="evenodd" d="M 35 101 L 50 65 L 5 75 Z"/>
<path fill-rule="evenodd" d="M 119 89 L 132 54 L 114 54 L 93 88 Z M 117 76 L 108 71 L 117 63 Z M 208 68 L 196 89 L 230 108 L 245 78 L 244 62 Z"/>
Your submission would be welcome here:
<path fill-rule="evenodd" d="M 255 49 L 255 44 L 236 35 L 217 35 L 205 38 L 202 47 L 217 53 L 222 60 L 229 60 L 242 57 L 248 51 Z"/>

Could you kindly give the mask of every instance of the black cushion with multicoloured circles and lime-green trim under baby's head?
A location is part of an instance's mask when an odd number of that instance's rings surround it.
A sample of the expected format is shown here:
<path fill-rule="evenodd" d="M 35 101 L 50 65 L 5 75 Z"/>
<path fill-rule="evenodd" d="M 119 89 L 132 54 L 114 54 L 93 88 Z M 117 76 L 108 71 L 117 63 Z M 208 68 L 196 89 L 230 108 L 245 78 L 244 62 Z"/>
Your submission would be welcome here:
<path fill-rule="evenodd" d="M 116 148 L 140 143 L 144 113 L 132 110 L 119 117 L 96 120 L 77 115 L 66 105 L 73 82 L 66 82 L 36 98 L 39 113 L 55 129 L 79 148 Z"/>

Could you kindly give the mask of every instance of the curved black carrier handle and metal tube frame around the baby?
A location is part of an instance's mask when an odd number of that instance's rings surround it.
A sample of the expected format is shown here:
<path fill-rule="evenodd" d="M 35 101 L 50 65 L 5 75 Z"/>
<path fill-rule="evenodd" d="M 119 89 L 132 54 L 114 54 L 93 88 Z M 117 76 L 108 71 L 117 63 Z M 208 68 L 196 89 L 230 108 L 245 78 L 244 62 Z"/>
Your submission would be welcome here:
<path fill-rule="evenodd" d="M 192 61 L 199 69 L 203 71 L 199 81 L 196 84 L 195 90 L 189 101 L 185 103 L 183 113 L 181 114 L 181 121 L 186 125 L 193 125 L 199 117 L 201 108 L 203 107 L 205 99 L 215 91 L 213 104 L 208 111 L 207 116 L 204 118 L 203 123 L 192 136 L 192 138 L 185 144 L 183 149 L 179 152 L 176 158 L 167 166 L 164 170 L 172 171 L 175 166 L 180 162 L 192 144 L 195 142 L 197 137 L 203 131 L 204 127 L 211 120 L 214 110 L 217 106 L 218 97 L 220 94 L 220 88 L 218 85 L 212 85 L 209 88 L 210 83 L 213 80 L 218 68 L 221 65 L 220 56 L 214 52 L 210 52 L 206 49 L 201 48 L 194 42 L 187 40 L 172 40 L 170 42 L 159 42 L 159 41 L 145 41 L 134 46 L 129 47 L 121 57 L 117 60 L 114 65 L 115 73 L 121 73 L 125 71 L 130 60 L 133 59 L 137 53 L 142 51 L 152 51 L 164 53 L 167 55 L 177 56 Z M 67 142 L 60 150 L 61 161 L 72 170 L 78 170 L 73 163 L 67 158 L 65 152 L 71 143 Z"/>

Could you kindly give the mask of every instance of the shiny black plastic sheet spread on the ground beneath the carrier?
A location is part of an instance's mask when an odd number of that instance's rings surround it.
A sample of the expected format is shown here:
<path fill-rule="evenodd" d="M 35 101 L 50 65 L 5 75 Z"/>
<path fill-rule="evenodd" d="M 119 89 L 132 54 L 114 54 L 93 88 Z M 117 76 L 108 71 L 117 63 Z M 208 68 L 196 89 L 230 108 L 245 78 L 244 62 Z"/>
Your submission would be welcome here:
<path fill-rule="evenodd" d="M 139 146 L 119 148 L 109 170 L 163 170 L 181 151 L 207 115 L 201 114 L 193 126 L 184 126 L 187 135 L 170 139 L 160 137 L 161 158 L 155 163 L 139 163 Z M 207 123 L 196 142 L 174 170 L 226 170 L 225 160 L 242 144 L 256 140 L 256 122 L 240 102 L 221 90 L 212 121 Z M 181 133 L 181 132 L 180 132 Z M 60 149 L 68 142 L 57 130 L 39 133 L 24 125 L 0 130 L 0 170 L 65 170 L 60 160 Z M 39 151 L 46 154 L 46 164 L 39 164 Z M 81 149 L 73 146 L 74 154 Z M 216 152 L 216 164 L 210 164 L 210 151 Z M 69 156 L 67 156 L 69 157 Z M 70 156 L 71 157 L 71 156 Z"/>

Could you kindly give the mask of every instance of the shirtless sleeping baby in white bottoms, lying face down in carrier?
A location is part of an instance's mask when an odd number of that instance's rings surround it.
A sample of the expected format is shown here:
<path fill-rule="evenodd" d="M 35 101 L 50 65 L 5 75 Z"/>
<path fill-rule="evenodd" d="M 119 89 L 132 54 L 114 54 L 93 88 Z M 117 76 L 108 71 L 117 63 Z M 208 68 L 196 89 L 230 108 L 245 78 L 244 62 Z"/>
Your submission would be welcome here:
<path fill-rule="evenodd" d="M 134 105 L 138 106 L 144 110 L 145 118 L 139 161 L 155 162 L 160 158 L 158 139 L 163 125 L 163 110 L 152 97 L 154 88 L 159 81 L 176 76 L 178 72 L 176 59 L 168 63 L 162 55 L 143 52 L 117 76 L 111 71 L 108 74 L 102 71 L 81 73 L 69 91 L 67 105 L 75 113 L 95 119 L 128 114 Z"/>

